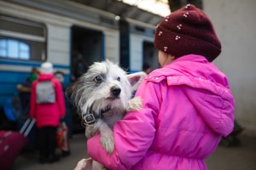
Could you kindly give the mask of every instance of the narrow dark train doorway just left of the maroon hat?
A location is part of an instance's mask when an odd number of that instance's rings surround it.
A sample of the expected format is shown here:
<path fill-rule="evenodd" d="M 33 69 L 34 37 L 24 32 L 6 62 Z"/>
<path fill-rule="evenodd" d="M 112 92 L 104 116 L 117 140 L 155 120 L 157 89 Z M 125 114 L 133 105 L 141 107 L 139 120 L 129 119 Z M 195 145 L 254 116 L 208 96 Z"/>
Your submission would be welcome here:
<path fill-rule="evenodd" d="M 143 64 L 149 65 L 152 69 L 159 68 L 158 50 L 154 48 L 153 42 L 143 42 Z"/>

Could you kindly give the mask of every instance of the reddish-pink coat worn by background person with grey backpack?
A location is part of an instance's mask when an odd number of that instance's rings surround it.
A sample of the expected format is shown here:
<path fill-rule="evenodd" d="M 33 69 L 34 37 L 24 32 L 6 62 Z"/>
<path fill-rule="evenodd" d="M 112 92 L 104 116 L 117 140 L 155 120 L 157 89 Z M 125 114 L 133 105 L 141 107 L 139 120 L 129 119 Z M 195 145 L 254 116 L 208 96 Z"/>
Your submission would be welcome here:
<path fill-rule="evenodd" d="M 52 80 L 55 87 L 55 103 L 37 104 L 36 86 L 38 82 Z M 61 82 L 55 79 L 53 74 L 40 74 L 38 80 L 32 83 L 30 116 L 36 118 L 37 127 L 58 127 L 61 117 L 66 114 L 65 99 Z"/>

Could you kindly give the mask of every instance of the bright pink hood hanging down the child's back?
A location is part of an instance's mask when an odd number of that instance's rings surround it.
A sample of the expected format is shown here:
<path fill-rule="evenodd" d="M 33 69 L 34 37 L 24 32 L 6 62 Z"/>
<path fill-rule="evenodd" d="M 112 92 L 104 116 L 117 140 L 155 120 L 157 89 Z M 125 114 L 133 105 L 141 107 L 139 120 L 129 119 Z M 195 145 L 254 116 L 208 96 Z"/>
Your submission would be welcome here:
<path fill-rule="evenodd" d="M 169 86 L 184 85 L 183 93 L 215 133 L 227 136 L 232 132 L 235 100 L 227 77 L 207 59 L 186 55 L 152 73 L 150 77 L 158 77 L 159 82 L 166 79 Z"/>

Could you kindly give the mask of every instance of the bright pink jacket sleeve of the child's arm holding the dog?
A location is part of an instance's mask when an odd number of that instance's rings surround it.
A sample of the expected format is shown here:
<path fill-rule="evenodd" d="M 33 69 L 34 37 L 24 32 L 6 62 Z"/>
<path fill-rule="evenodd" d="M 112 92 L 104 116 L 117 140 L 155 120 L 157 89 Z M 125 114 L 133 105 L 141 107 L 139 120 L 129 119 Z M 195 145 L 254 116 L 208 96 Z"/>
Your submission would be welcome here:
<path fill-rule="evenodd" d="M 109 169 L 131 169 L 146 154 L 154 140 L 154 116 L 159 111 L 159 100 L 153 83 L 144 83 L 137 96 L 143 99 L 143 109 L 128 112 L 113 127 L 113 153 L 109 155 L 100 144 L 100 135 L 87 142 L 89 156 Z"/>

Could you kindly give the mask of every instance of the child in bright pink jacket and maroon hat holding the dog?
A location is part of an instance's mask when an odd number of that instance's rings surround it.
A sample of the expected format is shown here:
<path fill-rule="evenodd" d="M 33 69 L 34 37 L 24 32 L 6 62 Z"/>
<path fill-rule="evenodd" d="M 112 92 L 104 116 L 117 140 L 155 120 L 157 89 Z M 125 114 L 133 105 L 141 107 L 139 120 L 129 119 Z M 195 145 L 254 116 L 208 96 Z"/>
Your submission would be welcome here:
<path fill-rule="evenodd" d="M 189 4 L 160 22 L 154 46 L 162 68 L 137 90 L 143 108 L 115 124 L 112 154 L 100 135 L 88 140 L 88 154 L 108 169 L 205 170 L 204 160 L 234 125 L 228 79 L 212 63 L 221 44 L 207 15 Z"/>

